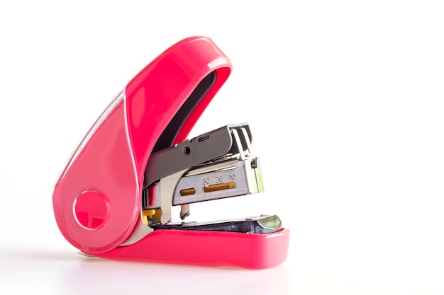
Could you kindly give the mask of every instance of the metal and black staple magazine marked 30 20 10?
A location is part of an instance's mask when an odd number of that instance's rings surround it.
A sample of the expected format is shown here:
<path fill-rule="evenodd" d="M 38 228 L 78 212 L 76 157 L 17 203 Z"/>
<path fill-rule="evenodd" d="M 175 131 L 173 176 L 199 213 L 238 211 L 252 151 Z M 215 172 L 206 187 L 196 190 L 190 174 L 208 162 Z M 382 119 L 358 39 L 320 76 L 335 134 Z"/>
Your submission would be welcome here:
<path fill-rule="evenodd" d="M 122 245 L 139 241 L 189 204 L 262 192 L 260 159 L 251 154 L 248 124 L 226 125 L 151 154 L 145 169 L 141 218 Z"/>

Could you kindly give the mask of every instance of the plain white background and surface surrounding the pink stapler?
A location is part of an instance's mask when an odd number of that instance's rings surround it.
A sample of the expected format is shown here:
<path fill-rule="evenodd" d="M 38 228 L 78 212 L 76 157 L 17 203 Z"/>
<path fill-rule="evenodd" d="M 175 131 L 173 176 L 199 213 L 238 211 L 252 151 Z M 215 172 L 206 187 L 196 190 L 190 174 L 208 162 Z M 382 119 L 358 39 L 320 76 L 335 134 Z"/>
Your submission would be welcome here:
<path fill-rule="evenodd" d="M 441 1 L 2 1 L 0 294 L 444 294 L 443 16 Z M 250 123 L 266 191 L 189 218 L 277 214 L 288 259 L 77 255 L 52 213 L 58 173 L 129 79 L 192 35 L 233 73 L 190 137 Z"/>

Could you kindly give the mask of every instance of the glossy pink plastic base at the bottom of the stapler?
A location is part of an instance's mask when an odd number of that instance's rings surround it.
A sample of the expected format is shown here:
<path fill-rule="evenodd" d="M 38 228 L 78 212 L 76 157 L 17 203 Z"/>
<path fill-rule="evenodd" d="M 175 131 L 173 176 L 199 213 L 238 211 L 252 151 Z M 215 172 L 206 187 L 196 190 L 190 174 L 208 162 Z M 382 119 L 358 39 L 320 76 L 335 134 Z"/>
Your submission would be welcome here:
<path fill-rule="evenodd" d="M 157 230 L 96 256 L 112 260 L 263 269 L 287 259 L 289 230 L 276 233 Z"/>

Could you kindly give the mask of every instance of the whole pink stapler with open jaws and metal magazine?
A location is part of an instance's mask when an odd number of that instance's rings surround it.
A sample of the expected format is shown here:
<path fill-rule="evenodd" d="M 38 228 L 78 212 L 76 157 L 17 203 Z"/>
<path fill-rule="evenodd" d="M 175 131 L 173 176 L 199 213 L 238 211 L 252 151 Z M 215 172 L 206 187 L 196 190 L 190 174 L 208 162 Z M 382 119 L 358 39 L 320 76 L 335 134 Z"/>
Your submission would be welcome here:
<path fill-rule="evenodd" d="M 274 267 L 289 230 L 276 215 L 183 221 L 189 204 L 264 190 L 248 124 L 187 139 L 228 79 L 208 37 L 160 54 L 118 93 L 74 150 L 54 187 L 57 225 L 80 253 L 111 260 Z M 172 221 L 180 206 L 181 221 Z"/>

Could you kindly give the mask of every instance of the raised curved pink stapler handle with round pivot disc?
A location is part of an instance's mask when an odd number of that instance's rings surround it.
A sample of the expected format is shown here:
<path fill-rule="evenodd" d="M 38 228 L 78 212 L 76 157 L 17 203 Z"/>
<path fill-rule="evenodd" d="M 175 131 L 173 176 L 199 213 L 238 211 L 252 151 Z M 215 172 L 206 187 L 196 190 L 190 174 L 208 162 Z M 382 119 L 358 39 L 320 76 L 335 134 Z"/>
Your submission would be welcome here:
<path fill-rule="evenodd" d="M 151 152 L 186 139 L 230 72 L 231 62 L 212 40 L 189 37 L 123 88 L 55 183 L 55 219 L 67 241 L 88 254 L 126 241 L 140 219 Z"/>

